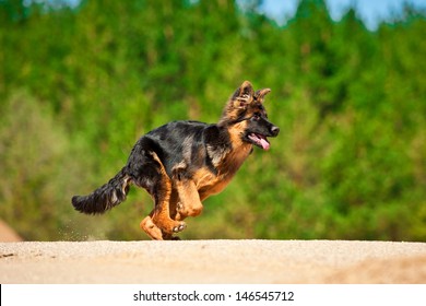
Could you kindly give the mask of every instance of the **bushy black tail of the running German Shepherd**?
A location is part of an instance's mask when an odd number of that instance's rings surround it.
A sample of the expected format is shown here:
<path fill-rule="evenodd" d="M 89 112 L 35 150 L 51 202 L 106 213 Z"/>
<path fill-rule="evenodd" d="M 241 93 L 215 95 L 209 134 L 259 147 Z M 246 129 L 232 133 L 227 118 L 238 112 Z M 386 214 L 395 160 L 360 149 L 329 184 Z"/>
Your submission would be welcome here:
<path fill-rule="evenodd" d="M 126 200 L 130 185 L 131 179 L 126 174 L 125 167 L 91 195 L 72 197 L 72 205 L 75 210 L 87 214 L 104 213 Z"/>

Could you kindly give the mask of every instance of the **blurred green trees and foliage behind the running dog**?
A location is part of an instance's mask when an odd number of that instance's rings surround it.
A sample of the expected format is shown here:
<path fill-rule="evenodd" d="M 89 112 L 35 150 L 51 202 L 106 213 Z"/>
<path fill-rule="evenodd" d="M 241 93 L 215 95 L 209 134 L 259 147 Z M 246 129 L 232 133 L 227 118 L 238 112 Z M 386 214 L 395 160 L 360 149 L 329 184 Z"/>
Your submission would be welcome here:
<path fill-rule="evenodd" d="M 146 238 L 144 190 L 103 216 L 71 197 L 151 129 L 216 121 L 250 80 L 281 134 L 184 238 L 426 240 L 424 12 L 370 32 L 322 0 L 285 26 L 259 1 L 46 2 L 0 1 L 0 219 L 25 239 Z"/>

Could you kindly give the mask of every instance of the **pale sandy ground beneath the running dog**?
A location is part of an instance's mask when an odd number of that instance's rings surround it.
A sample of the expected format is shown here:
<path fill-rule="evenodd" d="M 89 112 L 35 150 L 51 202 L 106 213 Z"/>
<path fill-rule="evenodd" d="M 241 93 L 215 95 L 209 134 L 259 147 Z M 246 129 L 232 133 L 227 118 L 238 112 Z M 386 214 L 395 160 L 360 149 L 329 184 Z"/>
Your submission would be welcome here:
<path fill-rule="evenodd" d="M 0 283 L 426 283 L 426 244 L 0 243 Z"/>

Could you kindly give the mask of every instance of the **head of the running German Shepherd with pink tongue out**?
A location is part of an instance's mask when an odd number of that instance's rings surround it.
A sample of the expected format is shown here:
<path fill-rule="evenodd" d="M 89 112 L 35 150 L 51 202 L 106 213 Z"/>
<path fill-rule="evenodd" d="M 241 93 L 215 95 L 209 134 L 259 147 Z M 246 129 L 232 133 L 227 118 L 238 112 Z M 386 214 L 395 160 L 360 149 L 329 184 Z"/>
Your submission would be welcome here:
<path fill-rule="evenodd" d="M 249 81 L 245 81 L 229 98 L 220 125 L 233 127 L 233 131 L 246 143 L 269 150 L 268 137 L 276 137 L 280 128 L 268 120 L 263 106 L 264 96 L 270 89 L 257 92 Z"/>

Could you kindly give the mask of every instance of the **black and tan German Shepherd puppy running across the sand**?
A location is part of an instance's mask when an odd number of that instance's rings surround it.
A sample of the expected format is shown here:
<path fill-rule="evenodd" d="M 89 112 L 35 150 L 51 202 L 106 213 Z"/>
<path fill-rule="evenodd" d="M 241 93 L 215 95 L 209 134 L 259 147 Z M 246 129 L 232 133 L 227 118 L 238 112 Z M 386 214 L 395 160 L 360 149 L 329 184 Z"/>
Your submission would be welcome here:
<path fill-rule="evenodd" d="M 184 220 L 201 213 L 202 201 L 221 192 L 253 150 L 269 150 L 267 137 L 280 129 L 263 107 L 270 89 L 245 81 L 227 102 L 220 121 L 173 121 L 138 140 L 127 165 L 88 196 L 74 196 L 75 210 L 97 214 L 126 200 L 130 185 L 144 188 L 154 210 L 141 222 L 153 239 L 174 239 Z"/>

